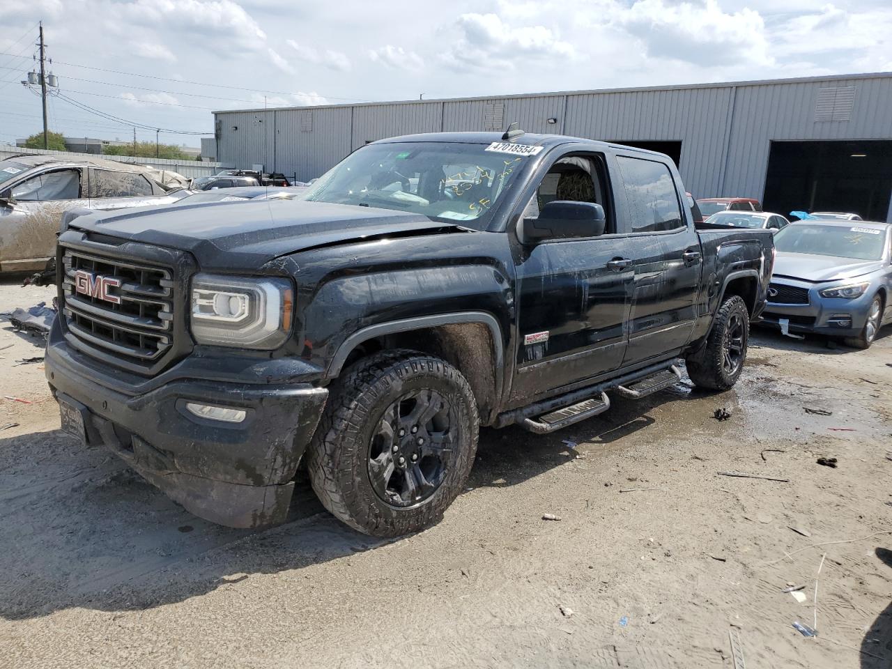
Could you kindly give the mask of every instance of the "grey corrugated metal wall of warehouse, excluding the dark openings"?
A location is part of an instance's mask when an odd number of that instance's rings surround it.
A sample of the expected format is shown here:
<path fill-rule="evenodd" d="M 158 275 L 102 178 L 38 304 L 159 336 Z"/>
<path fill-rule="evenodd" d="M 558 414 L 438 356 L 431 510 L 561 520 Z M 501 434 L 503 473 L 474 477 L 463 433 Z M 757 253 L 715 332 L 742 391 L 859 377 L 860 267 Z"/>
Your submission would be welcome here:
<path fill-rule="evenodd" d="M 822 87 L 855 87 L 850 120 L 815 120 Z M 301 131 L 308 110 L 312 129 Z M 679 169 L 692 193 L 761 198 L 772 140 L 892 139 L 889 110 L 892 75 L 287 109 L 275 111 L 275 132 L 264 122 L 273 111 L 227 111 L 217 114 L 218 159 L 262 162 L 306 181 L 368 141 L 483 130 L 501 118 L 529 132 L 680 141 Z"/>

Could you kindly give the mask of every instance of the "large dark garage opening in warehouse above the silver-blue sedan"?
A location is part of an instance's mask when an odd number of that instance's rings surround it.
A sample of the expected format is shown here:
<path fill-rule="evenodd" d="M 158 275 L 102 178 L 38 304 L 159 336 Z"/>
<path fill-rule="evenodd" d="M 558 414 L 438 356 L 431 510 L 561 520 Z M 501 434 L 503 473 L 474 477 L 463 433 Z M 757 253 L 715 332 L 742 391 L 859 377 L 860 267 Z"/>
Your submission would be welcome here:
<path fill-rule="evenodd" d="M 884 221 L 890 196 L 892 141 L 772 142 L 765 211 L 845 211 Z"/>

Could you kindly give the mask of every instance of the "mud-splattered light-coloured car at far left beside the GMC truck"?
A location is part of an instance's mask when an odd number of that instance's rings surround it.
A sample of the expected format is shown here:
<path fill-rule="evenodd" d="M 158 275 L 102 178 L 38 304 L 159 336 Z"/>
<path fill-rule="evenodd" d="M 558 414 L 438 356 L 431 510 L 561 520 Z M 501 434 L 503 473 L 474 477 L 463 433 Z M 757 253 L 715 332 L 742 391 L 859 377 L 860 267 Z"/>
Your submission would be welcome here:
<path fill-rule="evenodd" d="M 42 269 L 54 257 L 62 213 L 176 202 L 174 189 L 141 165 L 19 155 L 0 161 L 0 272 Z"/>

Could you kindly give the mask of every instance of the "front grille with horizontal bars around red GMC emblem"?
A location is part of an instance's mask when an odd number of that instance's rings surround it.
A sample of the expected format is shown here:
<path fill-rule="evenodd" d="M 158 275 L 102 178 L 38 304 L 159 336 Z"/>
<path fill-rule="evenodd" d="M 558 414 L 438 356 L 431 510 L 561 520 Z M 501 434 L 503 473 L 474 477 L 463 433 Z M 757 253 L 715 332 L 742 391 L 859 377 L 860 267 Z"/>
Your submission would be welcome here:
<path fill-rule="evenodd" d="M 169 269 L 74 249 L 64 249 L 62 264 L 62 313 L 80 351 L 148 370 L 170 350 L 174 296 Z M 118 285 L 109 294 L 120 302 L 78 293 L 78 270 L 115 279 Z"/>

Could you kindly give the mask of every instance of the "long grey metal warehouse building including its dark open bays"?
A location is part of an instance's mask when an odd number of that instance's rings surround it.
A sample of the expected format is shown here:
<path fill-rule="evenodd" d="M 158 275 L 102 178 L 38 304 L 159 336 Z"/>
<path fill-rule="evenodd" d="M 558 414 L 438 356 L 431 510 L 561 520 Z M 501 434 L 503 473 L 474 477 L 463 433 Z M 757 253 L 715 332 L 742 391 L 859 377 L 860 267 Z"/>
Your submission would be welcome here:
<path fill-rule="evenodd" d="M 302 181 L 384 137 L 503 130 L 668 153 L 697 197 L 892 221 L 892 73 L 216 111 L 217 160 Z"/>

